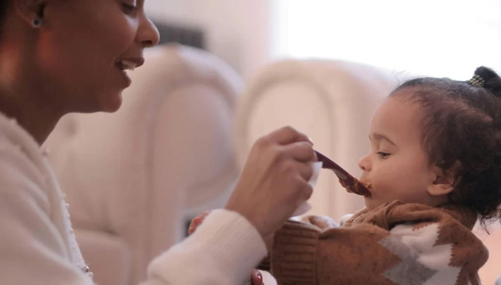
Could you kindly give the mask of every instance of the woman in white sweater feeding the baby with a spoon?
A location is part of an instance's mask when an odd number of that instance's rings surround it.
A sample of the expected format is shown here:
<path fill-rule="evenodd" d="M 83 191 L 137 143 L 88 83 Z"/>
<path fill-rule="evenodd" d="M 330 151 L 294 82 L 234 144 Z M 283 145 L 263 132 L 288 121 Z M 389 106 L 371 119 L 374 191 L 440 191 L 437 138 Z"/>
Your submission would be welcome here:
<path fill-rule="evenodd" d="M 158 43 L 144 0 L 0 0 L 0 283 L 89 285 L 64 194 L 40 145 L 70 112 L 113 112 Z M 144 285 L 237 284 L 264 238 L 311 195 L 308 137 L 260 139 L 225 209 L 157 257 Z M 256 277 L 256 275 L 255 275 Z M 102 284 L 106 285 L 106 284 Z"/>

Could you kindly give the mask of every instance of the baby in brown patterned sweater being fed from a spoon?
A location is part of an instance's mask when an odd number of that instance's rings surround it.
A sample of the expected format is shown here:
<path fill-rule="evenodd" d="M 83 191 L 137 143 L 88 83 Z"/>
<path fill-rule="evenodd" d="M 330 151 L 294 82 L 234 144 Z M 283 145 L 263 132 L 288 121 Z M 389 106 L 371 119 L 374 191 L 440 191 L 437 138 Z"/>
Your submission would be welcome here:
<path fill-rule="evenodd" d="M 418 78 L 375 111 L 359 162 L 366 207 L 341 226 L 290 220 L 260 269 L 279 284 L 479 284 L 488 252 L 471 232 L 501 216 L 501 78 Z"/>

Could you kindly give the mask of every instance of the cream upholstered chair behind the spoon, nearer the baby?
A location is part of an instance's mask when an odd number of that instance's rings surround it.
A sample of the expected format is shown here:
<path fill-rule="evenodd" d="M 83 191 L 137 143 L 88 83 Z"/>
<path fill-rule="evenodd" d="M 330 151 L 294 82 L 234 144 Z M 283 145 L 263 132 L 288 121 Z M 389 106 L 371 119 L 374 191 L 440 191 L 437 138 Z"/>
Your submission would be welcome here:
<path fill-rule="evenodd" d="M 389 72 L 344 62 L 286 60 L 263 68 L 240 100 L 235 148 L 243 164 L 253 142 L 291 125 L 308 134 L 315 148 L 358 176 L 358 159 L 369 150 L 369 125 L 378 103 L 396 86 Z M 310 200 L 310 214 L 339 219 L 363 207 L 363 199 L 341 188 L 323 170 Z"/>

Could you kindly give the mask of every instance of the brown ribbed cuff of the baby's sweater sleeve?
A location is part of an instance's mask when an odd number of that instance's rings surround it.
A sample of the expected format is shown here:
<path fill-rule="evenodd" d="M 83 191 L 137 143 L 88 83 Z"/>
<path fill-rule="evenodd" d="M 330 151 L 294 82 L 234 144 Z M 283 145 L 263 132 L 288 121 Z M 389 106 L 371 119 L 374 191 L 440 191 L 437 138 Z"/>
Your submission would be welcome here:
<path fill-rule="evenodd" d="M 271 267 L 284 284 L 316 284 L 318 227 L 288 221 L 275 233 Z"/>

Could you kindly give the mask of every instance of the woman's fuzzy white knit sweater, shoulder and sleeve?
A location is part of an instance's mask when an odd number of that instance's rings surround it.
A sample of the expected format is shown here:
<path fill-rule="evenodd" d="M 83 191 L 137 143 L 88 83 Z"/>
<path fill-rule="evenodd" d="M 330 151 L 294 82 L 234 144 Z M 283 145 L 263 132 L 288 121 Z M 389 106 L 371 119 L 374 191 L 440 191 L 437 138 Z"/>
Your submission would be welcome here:
<path fill-rule="evenodd" d="M 266 253 L 245 218 L 216 210 L 151 262 L 142 285 L 238 284 Z M 91 285 L 84 268 L 49 162 L 15 120 L 0 115 L 0 284 Z"/>

